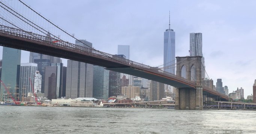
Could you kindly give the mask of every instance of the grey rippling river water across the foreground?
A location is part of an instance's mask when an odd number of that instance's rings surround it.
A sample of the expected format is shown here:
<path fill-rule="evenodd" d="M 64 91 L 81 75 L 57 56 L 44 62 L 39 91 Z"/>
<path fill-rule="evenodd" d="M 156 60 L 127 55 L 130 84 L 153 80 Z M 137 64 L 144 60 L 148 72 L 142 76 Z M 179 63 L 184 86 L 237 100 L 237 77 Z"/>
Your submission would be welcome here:
<path fill-rule="evenodd" d="M 0 106 L 0 134 L 249 134 L 256 111 Z"/>

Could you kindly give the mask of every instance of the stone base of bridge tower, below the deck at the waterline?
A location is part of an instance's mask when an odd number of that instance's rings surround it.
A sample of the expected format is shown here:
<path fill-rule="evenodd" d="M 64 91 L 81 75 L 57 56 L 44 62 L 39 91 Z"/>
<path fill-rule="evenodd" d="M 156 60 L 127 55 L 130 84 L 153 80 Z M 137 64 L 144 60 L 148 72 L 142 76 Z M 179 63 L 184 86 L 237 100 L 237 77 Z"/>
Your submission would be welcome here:
<path fill-rule="evenodd" d="M 203 109 L 203 89 L 176 88 L 175 109 L 182 110 L 202 110 Z"/>

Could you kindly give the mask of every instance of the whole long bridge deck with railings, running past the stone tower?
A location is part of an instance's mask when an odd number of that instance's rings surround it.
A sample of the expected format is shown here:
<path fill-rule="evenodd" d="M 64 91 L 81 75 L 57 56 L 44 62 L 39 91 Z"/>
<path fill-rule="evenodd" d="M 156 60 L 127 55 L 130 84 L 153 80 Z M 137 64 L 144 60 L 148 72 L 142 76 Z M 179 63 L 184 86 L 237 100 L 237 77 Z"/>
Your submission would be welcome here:
<path fill-rule="evenodd" d="M 20 29 L 0 25 L 0 45 L 4 47 L 16 48 L 94 64 L 106 67 L 109 70 L 144 77 L 157 82 L 170 84 L 175 87 L 195 88 L 196 86 L 196 83 L 193 81 L 184 79 L 163 70 L 159 70 L 155 67 L 150 67 L 141 63 L 107 54 L 105 52 L 100 52 L 93 48 L 81 47 L 79 45 L 61 40 L 57 40 L 57 42 L 55 41 L 56 39 L 49 36 L 38 35 L 35 33 L 22 31 Z M 206 87 L 203 87 L 203 89 L 205 92 L 209 92 L 225 99 L 227 98 L 227 96 L 222 95 L 217 91 L 208 89 Z"/>

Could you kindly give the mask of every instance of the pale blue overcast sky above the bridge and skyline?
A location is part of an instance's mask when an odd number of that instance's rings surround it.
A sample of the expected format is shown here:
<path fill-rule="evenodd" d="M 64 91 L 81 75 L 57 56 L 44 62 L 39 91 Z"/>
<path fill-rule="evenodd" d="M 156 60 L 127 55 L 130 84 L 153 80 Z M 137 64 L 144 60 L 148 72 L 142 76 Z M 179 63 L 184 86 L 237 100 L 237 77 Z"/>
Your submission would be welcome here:
<path fill-rule="evenodd" d="M 93 43 L 97 50 L 117 54 L 130 45 L 130 60 L 163 64 L 163 32 L 176 33 L 176 56 L 189 55 L 189 33 L 201 32 L 206 71 L 229 93 L 243 87 L 252 94 L 256 79 L 256 1 L 254 0 L 25 0 L 41 15 Z M 0 59 L 2 47 L 0 47 Z M 21 63 L 29 61 L 22 51 Z M 66 65 L 66 60 L 63 60 Z"/>

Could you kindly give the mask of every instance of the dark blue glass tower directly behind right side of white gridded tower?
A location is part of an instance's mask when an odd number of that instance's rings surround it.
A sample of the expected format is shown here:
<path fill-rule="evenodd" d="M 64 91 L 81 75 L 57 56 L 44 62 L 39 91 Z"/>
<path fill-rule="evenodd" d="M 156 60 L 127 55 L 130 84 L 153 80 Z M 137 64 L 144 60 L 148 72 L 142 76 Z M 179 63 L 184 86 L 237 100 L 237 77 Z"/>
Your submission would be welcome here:
<path fill-rule="evenodd" d="M 42 75 L 41 93 L 44 93 L 45 92 L 45 67 L 51 66 L 51 60 L 34 59 L 34 63 L 37 64 L 37 70 Z"/>

